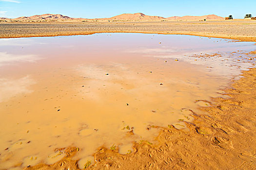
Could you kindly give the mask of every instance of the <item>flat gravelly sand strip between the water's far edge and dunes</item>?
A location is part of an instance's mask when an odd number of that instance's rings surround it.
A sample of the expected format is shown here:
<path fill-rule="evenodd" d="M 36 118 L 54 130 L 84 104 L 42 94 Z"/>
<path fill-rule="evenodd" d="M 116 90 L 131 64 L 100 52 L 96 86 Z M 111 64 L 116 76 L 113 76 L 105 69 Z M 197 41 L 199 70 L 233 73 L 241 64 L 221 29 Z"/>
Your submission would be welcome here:
<path fill-rule="evenodd" d="M 256 42 L 256 20 L 140 22 L 0 22 L 0 38 L 95 33 L 188 34 Z"/>

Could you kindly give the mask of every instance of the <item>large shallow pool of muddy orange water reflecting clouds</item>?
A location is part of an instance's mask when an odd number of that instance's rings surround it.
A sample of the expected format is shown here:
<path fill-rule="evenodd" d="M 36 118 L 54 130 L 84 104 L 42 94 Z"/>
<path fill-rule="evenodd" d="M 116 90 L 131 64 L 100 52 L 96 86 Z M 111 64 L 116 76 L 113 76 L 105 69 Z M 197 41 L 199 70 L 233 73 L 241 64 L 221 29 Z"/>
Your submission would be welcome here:
<path fill-rule="evenodd" d="M 54 149 L 68 146 L 79 148 L 82 168 L 99 146 L 125 154 L 133 141 L 156 143 L 155 126 L 183 129 L 189 109 L 228 97 L 220 89 L 255 67 L 244 54 L 253 44 L 158 34 L 0 39 L 0 169 L 55 163 L 64 154 Z"/>

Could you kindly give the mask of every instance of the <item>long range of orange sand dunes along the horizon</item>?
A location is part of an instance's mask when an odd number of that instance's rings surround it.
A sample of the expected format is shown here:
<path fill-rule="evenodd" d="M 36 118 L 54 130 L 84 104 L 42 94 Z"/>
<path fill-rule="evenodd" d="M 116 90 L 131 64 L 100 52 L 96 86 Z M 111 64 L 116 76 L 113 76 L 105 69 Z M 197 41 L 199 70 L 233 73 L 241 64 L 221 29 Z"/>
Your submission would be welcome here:
<path fill-rule="evenodd" d="M 68 16 L 63 16 L 60 14 L 43 14 L 43 15 L 35 15 L 31 17 L 18 17 L 14 19 L 10 18 L 4 18 L 1 17 L 1 20 L 55 20 L 55 21 L 68 21 L 68 20 L 75 20 L 75 21 L 82 21 L 82 20 L 99 20 L 99 21 L 104 21 L 104 20 L 133 20 L 133 21 L 138 21 L 138 20 L 223 20 L 224 17 L 219 17 L 216 15 L 207 15 L 207 16 L 184 16 L 184 17 L 158 17 L 158 16 L 147 16 L 142 13 L 135 13 L 135 14 L 121 14 L 115 17 L 109 17 L 109 18 L 94 18 L 94 19 L 88 19 L 88 18 L 74 18 L 74 17 L 68 17 Z"/>

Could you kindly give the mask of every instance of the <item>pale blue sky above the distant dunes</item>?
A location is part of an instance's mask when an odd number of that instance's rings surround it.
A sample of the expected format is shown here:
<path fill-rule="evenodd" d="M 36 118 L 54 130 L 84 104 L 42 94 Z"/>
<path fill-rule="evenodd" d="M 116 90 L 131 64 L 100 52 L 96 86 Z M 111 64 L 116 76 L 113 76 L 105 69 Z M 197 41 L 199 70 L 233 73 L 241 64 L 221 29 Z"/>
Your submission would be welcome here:
<path fill-rule="evenodd" d="M 0 0 L 0 17 L 10 18 L 47 13 L 100 18 L 138 12 L 160 17 L 209 14 L 256 17 L 256 0 Z"/>

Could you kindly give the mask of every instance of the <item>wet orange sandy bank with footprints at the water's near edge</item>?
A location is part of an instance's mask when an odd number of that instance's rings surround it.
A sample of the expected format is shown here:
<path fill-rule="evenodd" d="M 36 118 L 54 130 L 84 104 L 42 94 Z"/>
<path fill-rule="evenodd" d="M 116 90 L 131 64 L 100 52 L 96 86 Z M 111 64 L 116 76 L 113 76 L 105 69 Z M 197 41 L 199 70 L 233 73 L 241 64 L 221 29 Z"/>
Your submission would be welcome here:
<path fill-rule="evenodd" d="M 256 169 L 255 75 L 255 68 L 244 71 L 244 78 L 225 90 L 231 98 L 214 99 L 215 104 L 202 108 L 207 114 L 191 112 L 195 120 L 185 122 L 189 132 L 173 126 L 162 128 L 157 137 L 158 145 L 141 140 L 134 143 L 134 152 L 126 155 L 120 155 L 118 148 L 99 148 L 94 154 L 96 163 L 88 162 L 86 166 L 94 170 Z M 77 152 L 77 148 L 68 148 L 66 157 L 59 162 L 39 164 L 26 170 L 78 169 L 77 161 L 72 160 Z"/>

